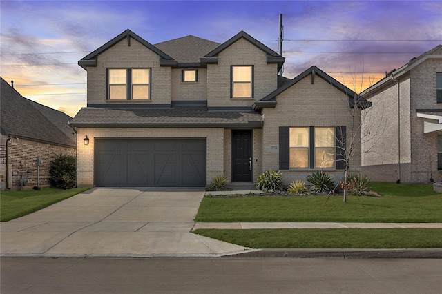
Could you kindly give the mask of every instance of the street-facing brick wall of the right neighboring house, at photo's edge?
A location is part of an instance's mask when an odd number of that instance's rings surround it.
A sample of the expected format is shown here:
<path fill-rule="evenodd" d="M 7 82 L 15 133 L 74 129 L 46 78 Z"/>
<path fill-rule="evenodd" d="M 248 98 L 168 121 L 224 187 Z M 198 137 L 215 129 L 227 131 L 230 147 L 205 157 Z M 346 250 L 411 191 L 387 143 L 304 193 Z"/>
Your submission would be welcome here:
<path fill-rule="evenodd" d="M 423 133 L 424 121 L 435 120 L 417 117 L 416 109 L 442 110 L 436 101 L 436 73 L 442 72 L 442 59 L 428 59 L 410 70 L 411 95 L 411 153 L 412 182 L 429 183 L 430 178 L 442 182 L 442 170 L 437 170 L 437 135 L 442 131 Z M 442 112 L 430 113 L 442 116 Z"/>

